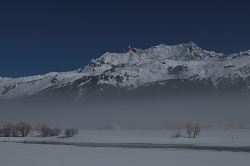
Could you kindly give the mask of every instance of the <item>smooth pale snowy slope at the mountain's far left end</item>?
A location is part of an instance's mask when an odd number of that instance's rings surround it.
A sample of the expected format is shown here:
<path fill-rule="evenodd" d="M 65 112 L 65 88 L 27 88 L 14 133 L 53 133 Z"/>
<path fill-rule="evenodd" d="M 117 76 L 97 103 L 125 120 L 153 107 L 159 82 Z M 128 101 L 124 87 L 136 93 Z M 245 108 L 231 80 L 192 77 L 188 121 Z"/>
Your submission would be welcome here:
<path fill-rule="evenodd" d="M 74 72 L 56 73 L 51 72 L 45 75 L 21 77 L 21 78 L 0 78 L 0 92 L 4 99 L 26 97 L 49 88 L 53 85 L 65 86 L 82 77 L 82 74 Z"/>

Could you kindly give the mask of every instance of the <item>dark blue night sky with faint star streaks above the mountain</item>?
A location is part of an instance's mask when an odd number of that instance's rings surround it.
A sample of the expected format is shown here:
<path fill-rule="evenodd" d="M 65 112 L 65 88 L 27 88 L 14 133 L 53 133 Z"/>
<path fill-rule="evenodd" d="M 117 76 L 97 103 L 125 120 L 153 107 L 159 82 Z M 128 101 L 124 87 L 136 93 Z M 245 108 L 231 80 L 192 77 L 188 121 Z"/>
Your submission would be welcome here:
<path fill-rule="evenodd" d="M 0 76 L 69 71 L 128 45 L 250 49 L 247 0 L 2 0 Z"/>

